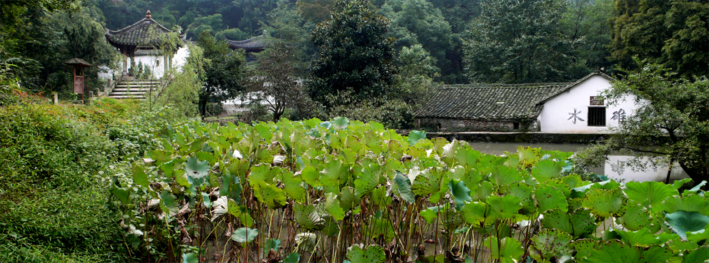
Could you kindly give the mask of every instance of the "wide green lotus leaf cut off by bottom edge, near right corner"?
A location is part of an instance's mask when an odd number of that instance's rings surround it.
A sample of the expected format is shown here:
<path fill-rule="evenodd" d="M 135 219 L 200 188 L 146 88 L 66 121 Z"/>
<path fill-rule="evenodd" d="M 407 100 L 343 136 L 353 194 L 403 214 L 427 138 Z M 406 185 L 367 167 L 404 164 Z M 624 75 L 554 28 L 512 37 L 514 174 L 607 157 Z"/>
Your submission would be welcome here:
<path fill-rule="evenodd" d="M 583 262 L 652 263 L 665 262 L 670 257 L 673 252 L 667 247 L 630 247 L 613 239 L 599 244 Z"/>

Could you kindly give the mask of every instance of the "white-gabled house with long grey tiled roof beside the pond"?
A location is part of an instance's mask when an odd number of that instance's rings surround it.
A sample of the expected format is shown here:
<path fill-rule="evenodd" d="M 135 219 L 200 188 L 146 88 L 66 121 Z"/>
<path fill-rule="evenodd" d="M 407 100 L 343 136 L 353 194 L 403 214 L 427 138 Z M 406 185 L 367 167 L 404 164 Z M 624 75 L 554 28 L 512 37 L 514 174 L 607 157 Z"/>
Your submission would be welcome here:
<path fill-rule="evenodd" d="M 573 83 L 451 85 L 438 89 L 416 113 L 433 130 L 608 133 L 635 112 L 635 96 L 618 105 L 600 100 L 610 77 L 591 73 Z"/>

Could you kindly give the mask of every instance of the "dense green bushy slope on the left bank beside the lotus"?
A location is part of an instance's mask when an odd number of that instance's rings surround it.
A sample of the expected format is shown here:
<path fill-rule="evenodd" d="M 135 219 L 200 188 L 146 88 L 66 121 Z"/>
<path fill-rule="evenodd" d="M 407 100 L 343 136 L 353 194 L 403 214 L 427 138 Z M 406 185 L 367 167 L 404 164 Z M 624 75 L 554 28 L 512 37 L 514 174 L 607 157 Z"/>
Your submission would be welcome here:
<path fill-rule="evenodd" d="M 102 180 L 154 148 L 134 103 L 0 108 L 0 262 L 124 262 Z"/>

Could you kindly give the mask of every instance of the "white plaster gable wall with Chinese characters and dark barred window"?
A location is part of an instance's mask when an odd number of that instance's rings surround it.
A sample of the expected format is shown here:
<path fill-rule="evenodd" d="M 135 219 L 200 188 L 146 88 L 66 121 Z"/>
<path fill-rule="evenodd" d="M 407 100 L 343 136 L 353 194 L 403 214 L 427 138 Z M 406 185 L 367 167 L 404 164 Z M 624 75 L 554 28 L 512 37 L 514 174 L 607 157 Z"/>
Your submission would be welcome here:
<path fill-rule="evenodd" d="M 610 80 L 604 76 L 594 75 L 585 81 L 576 84 L 570 90 L 565 91 L 558 96 L 547 100 L 544 103 L 542 112 L 539 115 L 539 123 L 541 132 L 543 133 L 609 133 L 611 126 L 618 126 L 618 120 L 613 120 L 613 113 L 620 109 L 625 110 L 626 118 L 635 112 L 635 96 L 626 96 L 625 99 L 618 101 L 616 105 L 608 105 L 608 101 L 604 102 L 605 109 L 605 127 L 588 126 L 588 106 L 590 105 L 590 96 L 599 96 L 600 93 L 610 88 Z M 573 123 L 572 115 L 574 109 L 578 113 L 578 117 Z"/>

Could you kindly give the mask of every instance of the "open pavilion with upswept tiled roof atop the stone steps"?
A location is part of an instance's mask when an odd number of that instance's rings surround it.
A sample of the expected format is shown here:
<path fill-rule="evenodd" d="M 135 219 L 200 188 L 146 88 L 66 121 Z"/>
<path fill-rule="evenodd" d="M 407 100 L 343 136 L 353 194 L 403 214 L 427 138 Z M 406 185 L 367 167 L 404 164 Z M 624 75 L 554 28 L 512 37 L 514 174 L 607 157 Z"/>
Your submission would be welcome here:
<path fill-rule="evenodd" d="M 162 53 L 164 57 L 164 67 L 165 72 L 167 72 L 169 68 L 172 67 L 172 56 L 176 52 L 176 49 L 169 54 L 164 52 L 165 48 L 161 48 L 161 45 L 168 38 L 170 33 L 175 32 L 152 19 L 150 10 L 148 10 L 144 19 L 130 26 L 126 26 L 124 29 L 116 31 L 106 29 L 106 41 L 108 41 L 111 46 L 118 48 L 121 54 L 126 56 L 126 58 L 131 59 L 131 71 L 135 68 L 136 51 L 158 51 Z M 186 41 L 185 36 L 186 33 L 179 36 L 181 42 Z M 181 46 L 181 44 L 182 43 L 178 43 L 179 46 Z M 124 59 L 122 76 L 128 75 L 128 61 Z M 130 75 L 133 75 L 132 72 Z"/>

